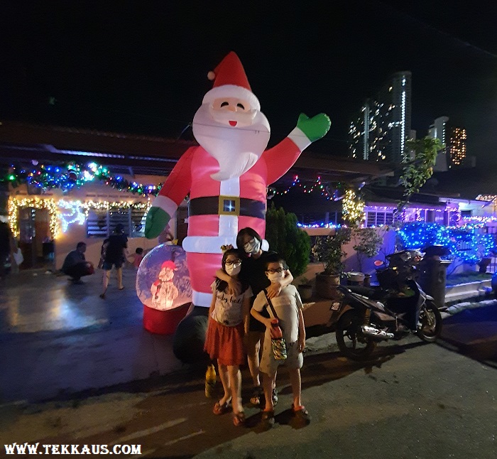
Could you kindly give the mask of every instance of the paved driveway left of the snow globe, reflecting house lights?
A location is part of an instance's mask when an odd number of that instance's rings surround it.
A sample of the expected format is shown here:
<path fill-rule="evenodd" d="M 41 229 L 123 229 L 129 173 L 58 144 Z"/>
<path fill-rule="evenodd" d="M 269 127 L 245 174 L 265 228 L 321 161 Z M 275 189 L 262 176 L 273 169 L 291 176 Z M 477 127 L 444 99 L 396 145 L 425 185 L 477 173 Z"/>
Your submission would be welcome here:
<path fill-rule="evenodd" d="M 172 336 L 143 329 L 135 271 L 124 291 L 101 272 L 73 285 L 66 276 L 21 271 L 0 284 L 0 404 L 43 400 L 175 372 Z"/>

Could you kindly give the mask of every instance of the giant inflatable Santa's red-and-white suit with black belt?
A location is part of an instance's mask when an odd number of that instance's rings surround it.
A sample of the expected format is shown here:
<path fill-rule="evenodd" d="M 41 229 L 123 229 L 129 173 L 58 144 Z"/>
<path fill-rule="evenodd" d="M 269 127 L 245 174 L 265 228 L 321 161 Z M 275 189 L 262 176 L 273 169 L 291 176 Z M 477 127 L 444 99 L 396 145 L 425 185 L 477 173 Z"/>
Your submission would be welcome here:
<path fill-rule="evenodd" d="M 211 178 L 219 164 L 201 146 L 189 148 L 182 155 L 153 205 L 174 215 L 176 207 L 190 193 L 188 237 L 183 248 L 187 252 L 195 306 L 210 306 L 210 285 L 221 266 L 221 246 L 236 245 L 236 234 L 245 227 L 264 237 L 266 185 L 285 174 L 300 153 L 290 135 L 264 151 L 249 171 L 222 181 Z"/>

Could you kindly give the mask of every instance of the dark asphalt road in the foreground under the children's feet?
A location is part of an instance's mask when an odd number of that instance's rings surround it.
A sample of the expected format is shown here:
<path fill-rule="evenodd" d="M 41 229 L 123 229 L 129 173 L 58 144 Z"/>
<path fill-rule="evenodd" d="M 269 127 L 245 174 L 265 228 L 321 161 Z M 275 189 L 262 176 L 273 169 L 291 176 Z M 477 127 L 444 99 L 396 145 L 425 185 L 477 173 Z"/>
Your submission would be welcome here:
<path fill-rule="evenodd" d="M 283 370 L 276 423 L 263 431 L 258 409 L 249 406 L 245 428 L 236 428 L 231 414 L 214 416 L 203 369 L 190 368 L 133 391 L 4 406 L 0 445 L 139 444 L 147 458 L 494 459 L 496 313 L 464 311 L 444 320 L 439 345 L 415 337 L 388 342 L 362 364 L 340 357 L 332 340 L 319 346 L 302 369 L 309 426 L 293 423 Z M 243 376 L 248 399 L 246 369 Z"/>

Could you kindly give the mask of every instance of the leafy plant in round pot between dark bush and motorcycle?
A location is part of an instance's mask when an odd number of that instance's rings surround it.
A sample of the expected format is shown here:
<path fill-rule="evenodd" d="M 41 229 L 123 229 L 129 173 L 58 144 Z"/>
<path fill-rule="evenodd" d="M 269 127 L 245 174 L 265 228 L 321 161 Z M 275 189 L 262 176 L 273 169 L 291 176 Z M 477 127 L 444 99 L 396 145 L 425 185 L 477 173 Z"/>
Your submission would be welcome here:
<path fill-rule="evenodd" d="M 346 256 L 343 245 L 351 240 L 350 228 L 336 229 L 334 234 L 316 240 L 312 254 L 324 265 L 324 271 L 316 274 L 316 293 L 323 298 L 335 298 L 340 275 L 344 271 L 342 258 Z"/>

